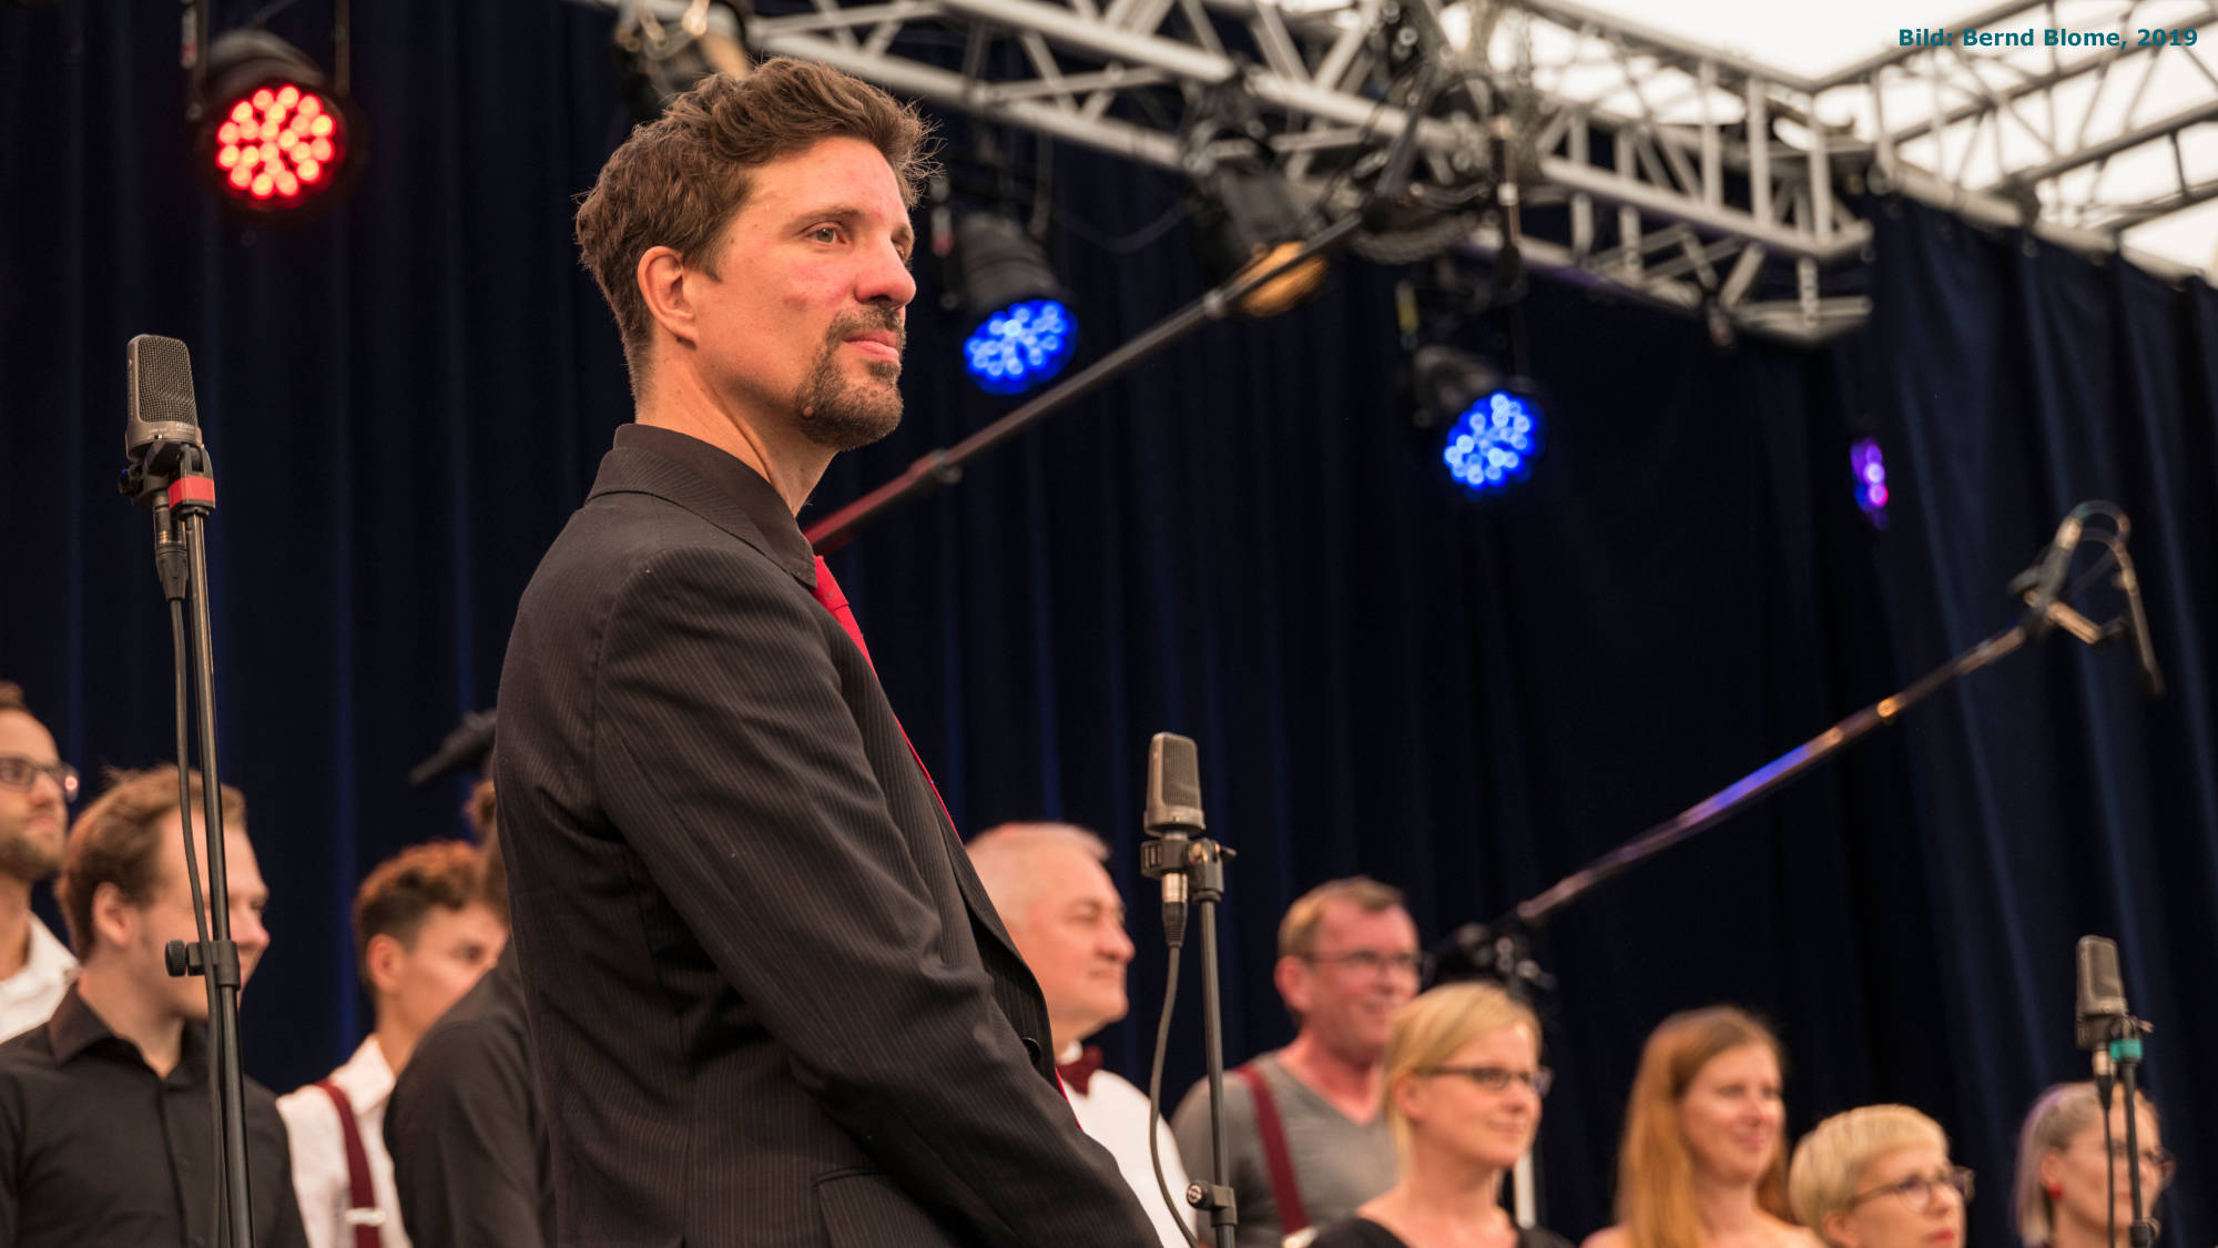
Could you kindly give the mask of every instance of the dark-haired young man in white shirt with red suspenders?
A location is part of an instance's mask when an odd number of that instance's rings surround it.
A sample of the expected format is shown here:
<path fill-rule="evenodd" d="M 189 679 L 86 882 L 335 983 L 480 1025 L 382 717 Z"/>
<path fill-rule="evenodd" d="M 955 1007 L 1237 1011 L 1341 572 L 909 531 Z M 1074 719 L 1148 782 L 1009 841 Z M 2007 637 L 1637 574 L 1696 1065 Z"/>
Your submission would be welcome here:
<path fill-rule="evenodd" d="M 492 966 L 508 919 L 486 897 L 479 851 L 404 848 L 355 893 L 355 959 L 375 1030 L 330 1077 L 277 1099 L 311 1248 L 408 1248 L 384 1117 L 417 1039 Z"/>

